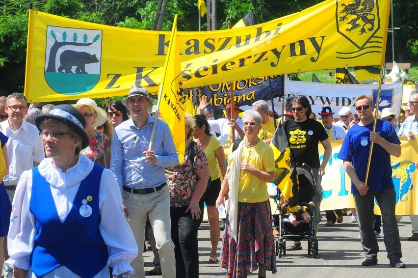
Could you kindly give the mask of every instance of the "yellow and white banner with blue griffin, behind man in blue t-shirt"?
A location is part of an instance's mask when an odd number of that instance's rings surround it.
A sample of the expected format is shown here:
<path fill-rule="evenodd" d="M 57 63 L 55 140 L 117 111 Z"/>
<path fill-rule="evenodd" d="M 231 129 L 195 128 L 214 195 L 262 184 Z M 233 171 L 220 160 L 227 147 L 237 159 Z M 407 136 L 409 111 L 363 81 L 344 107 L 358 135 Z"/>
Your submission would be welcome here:
<path fill-rule="evenodd" d="M 418 215 L 418 140 L 408 141 L 400 137 L 402 155 L 391 156 L 392 179 L 396 192 L 396 215 Z M 331 140 L 332 155 L 325 175 L 322 177 L 323 200 L 321 210 L 352 208 L 354 199 L 351 194 L 351 180 L 342 167 L 342 161 L 337 159 L 342 140 Z M 323 148 L 319 144 L 319 154 L 323 156 Z M 366 159 L 366 158 L 365 158 Z M 380 214 L 378 205 L 375 213 Z"/>

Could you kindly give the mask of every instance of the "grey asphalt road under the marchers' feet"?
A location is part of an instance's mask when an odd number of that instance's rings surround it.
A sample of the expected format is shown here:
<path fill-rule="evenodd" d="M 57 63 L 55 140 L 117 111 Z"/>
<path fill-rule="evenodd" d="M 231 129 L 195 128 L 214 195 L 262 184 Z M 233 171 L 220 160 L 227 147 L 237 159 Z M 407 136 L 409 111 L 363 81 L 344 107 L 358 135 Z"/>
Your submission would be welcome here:
<path fill-rule="evenodd" d="M 323 213 L 323 219 L 325 214 Z M 399 232 L 401 236 L 402 261 L 407 264 L 406 269 L 394 269 L 389 267 L 389 260 L 386 258 L 386 249 L 383 242 L 384 238 L 378 239 L 380 252 L 378 254 L 378 265 L 364 267 L 361 265 L 365 259 L 360 244 L 358 224 L 350 223 L 349 216 L 344 216 L 344 221 L 336 223 L 332 227 L 325 227 L 324 221 L 319 224 L 318 246 L 319 254 L 315 259 L 312 255 L 308 256 L 307 240 L 302 241 L 303 250 L 287 251 L 286 255 L 277 259 L 277 273 L 267 272 L 267 278 L 415 278 L 418 268 L 418 242 L 407 240 L 411 236 L 411 222 L 409 216 L 404 216 L 399 222 Z M 382 227 L 383 230 L 383 227 Z M 384 233 L 382 232 L 384 237 Z M 222 237 L 222 231 L 221 231 Z M 287 243 L 287 246 L 290 243 Z M 199 231 L 199 267 L 200 278 L 224 278 L 225 270 L 219 264 L 209 263 L 210 241 L 209 223 L 202 222 Z M 218 254 L 219 254 L 218 250 Z M 153 253 L 144 253 L 145 270 L 154 268 L 152 263 Z M 3 276 L 1 276 L 2 278 Z M 154 276 L 160 277 L 160 276 Z M 249 277 L 257 277 L 257 272 Z"/>

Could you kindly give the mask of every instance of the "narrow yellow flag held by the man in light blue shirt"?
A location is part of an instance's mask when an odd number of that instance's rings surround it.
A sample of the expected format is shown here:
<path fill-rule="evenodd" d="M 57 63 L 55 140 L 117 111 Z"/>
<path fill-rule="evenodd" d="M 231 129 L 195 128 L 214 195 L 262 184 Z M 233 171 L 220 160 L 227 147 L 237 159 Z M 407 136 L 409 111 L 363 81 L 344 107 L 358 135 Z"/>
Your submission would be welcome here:
<path fill-rule="evenodd" d="M 174 16 L 170 44 L 165 60 L 164 75 L 161 79 L 160 93 L 158 95 L 157 109 L 162 119 L 170 127 L 174 144 L 183 161 L 185 150 L 184 135 L 184 108 L 182 70 L 180 66 L 180 52 L 177 44 L 177 14 Z"/>

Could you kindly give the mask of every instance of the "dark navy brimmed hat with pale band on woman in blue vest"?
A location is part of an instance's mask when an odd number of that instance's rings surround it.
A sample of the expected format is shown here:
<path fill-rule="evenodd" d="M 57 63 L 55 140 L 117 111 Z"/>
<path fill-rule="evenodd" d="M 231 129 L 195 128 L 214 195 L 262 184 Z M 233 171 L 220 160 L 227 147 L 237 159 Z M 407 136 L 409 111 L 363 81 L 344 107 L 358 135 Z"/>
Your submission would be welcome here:
<path fill-rule="evenodd" d="M 84 149 L 88 146 L 89 139 L 84 131 L 84 128 L 86 127 L 86 120 L 80 111 L 77 110 L 77 108 L 68 104 L 61 104 L 55 106 L 47 114 L 38 115 L 35 119 L 35 123 L 39 131 L 42 131 L 41 123 L 46 119 L 54 119 L 68 126 L 71 126 L 83 139 L 81 148 Z"/>

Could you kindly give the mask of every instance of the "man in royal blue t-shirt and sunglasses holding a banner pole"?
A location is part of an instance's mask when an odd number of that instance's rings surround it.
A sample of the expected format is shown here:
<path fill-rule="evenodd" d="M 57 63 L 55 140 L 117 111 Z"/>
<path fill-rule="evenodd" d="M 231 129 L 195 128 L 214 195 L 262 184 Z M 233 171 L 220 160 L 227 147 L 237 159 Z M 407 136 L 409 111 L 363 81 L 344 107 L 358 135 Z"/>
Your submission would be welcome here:
<path fill-rule="evenodd" d="M 362 265 L 377 264 L 379 246 L 373 229 L 373 208 L 376 199 L 382 212 L 384 240 L 390 266 L 405 268 L 406 265 L 400 260 L 402 250 L 395 216 L 396 194 L 391 167 L 391 155 L 401 155 L 400 141 L 388 121 L 378 119 L 373 132 L 374 106 L 369 96 L 361 95 L 354 101 L 360 122 L 355 128 L 347 131 L 338 158 L 343 161 L 343 167 L 351 179 L 351 193 L 356 203 L 360 237 L 366 255 Z M 373 152 L 367 173 L 367 158 L 372 142 Z"/>

